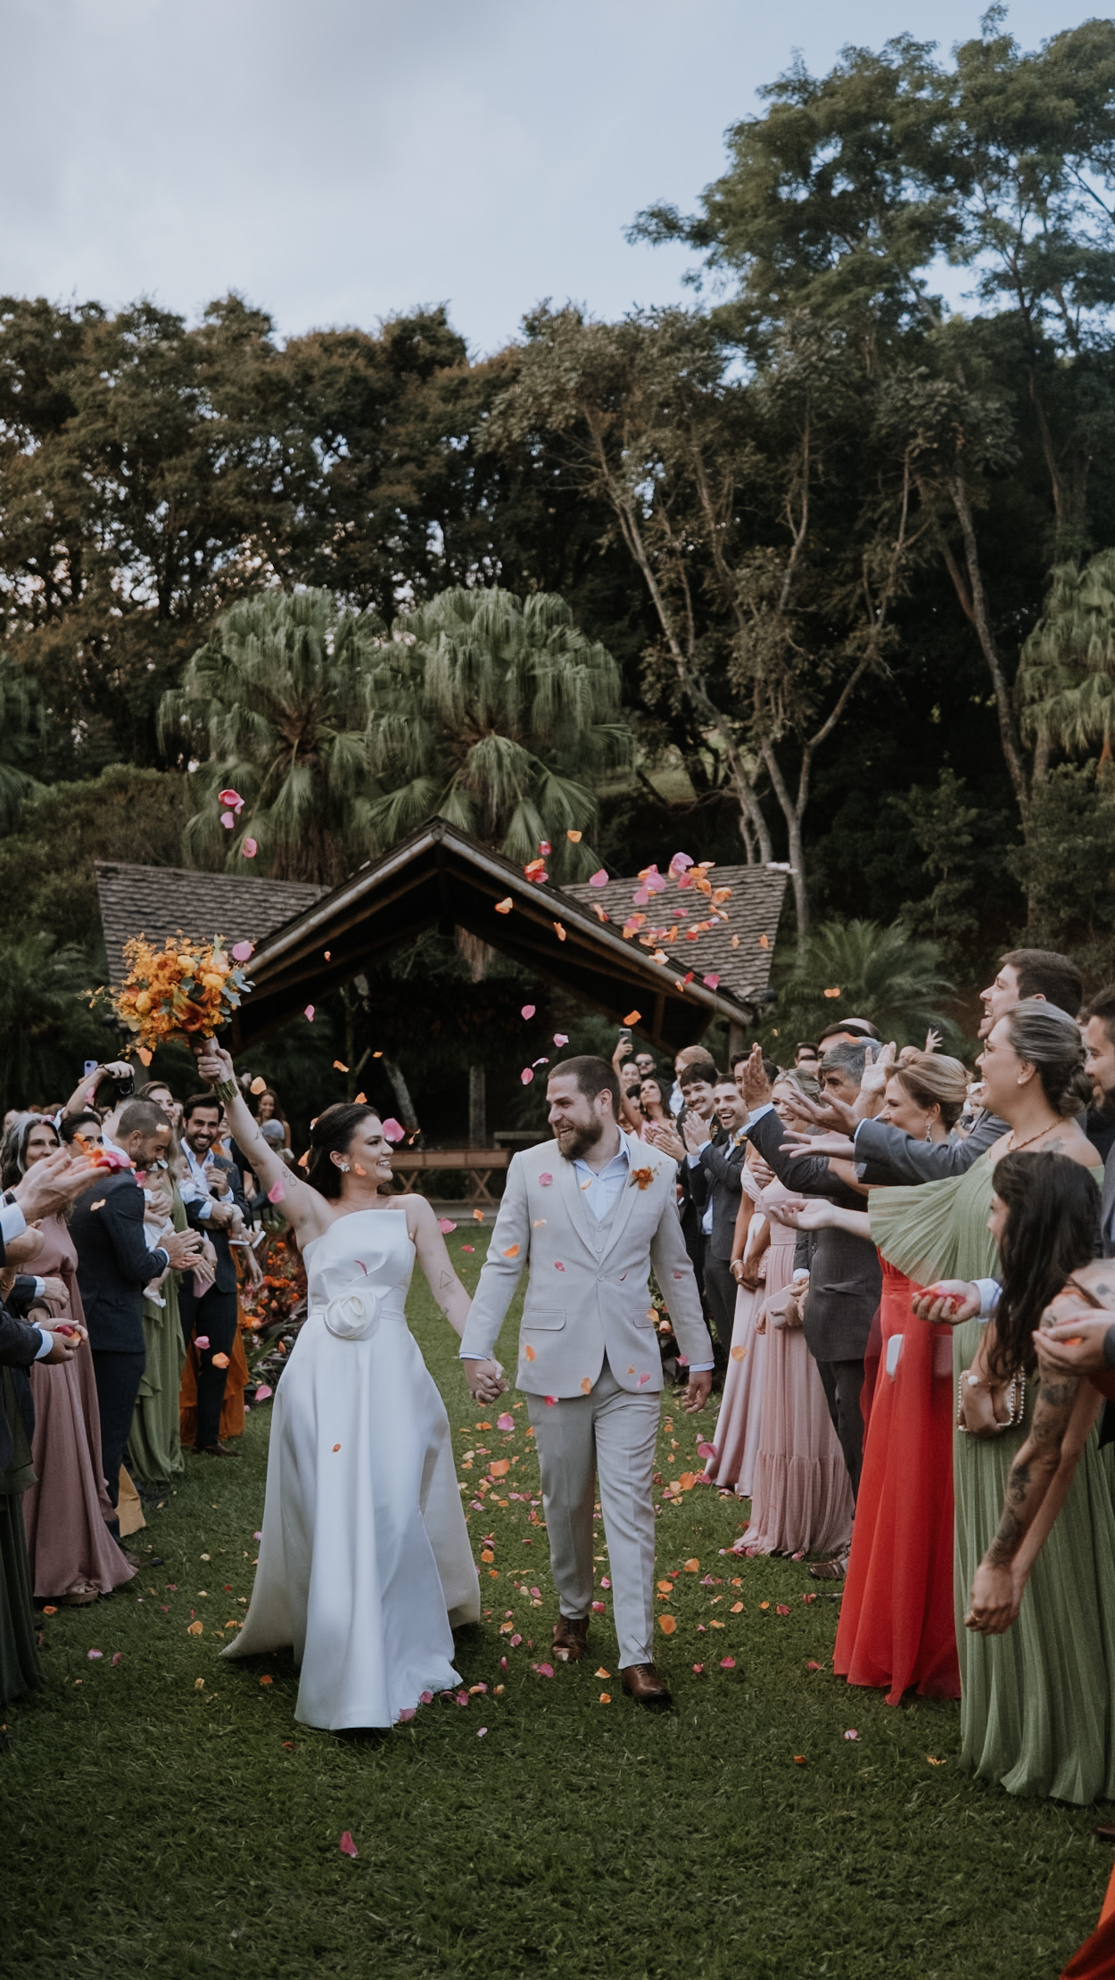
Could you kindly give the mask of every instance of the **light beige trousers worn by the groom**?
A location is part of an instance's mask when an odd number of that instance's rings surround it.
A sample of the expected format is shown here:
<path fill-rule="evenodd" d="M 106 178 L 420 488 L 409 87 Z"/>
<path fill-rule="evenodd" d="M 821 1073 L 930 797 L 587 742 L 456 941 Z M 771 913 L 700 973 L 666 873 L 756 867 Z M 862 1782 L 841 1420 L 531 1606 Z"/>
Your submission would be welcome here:
<path fill-rule="evenodd" d="M 527 1396 L 562 1616 L 592 1612 L 592 1511 L 608 1542 L 620 1669 L 654 1663 L 654 1447 L 658 1396 L 620 1388 L 608 1362 L 588 1396 Z"/>

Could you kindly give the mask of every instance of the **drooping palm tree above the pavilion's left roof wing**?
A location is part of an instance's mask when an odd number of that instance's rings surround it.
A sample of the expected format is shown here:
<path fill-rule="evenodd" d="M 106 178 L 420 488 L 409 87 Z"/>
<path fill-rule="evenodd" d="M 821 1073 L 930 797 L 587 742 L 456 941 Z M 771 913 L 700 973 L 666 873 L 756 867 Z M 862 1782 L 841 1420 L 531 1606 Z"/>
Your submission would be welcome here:
<path fill-rule="evenodd" d="M 335 885 L 366 859 L 376 784 L 364 741 L 374 622 L 333 596 L 261 592 L 234 604 L 198 647 L 158 729 L 200 758 L 186 855 L 198 865 L 246 857 L 275 879 Z M 218 792 L 244 808 L 222 828 Z M 230 816 L 226 812 L 226 816 Z M 253 847 L 257 851 L 253 851 Z"/>

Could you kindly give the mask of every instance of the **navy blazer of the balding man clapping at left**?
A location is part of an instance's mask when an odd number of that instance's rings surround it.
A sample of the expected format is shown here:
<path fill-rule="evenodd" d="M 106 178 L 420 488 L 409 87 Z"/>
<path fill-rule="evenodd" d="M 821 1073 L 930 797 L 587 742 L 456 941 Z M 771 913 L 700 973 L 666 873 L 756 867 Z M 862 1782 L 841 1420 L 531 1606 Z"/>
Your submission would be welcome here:
<path fill-rule="evenodd" d="M 69 1236 L 77 1247 L 77 1285 L 97 1352 L 143 1354 L 143 1289 L 166 1257 L 147 1249 L 143 1190 L 135 1170 L 97 1176 L 77 1198 Z"/>

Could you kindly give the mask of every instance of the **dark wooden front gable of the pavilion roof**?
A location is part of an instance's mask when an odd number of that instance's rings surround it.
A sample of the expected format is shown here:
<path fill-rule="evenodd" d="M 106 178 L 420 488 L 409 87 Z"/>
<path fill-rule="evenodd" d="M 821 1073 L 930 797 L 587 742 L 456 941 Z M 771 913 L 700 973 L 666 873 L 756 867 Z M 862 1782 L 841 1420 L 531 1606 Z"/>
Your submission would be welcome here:
<path fill-rule="evenodd" d="M 770 942 L 782 897 L 778 879 L 762 893 Z M 638 883 L 620 883 L 622 911 L 632 885 Z M 638 1010 L 640 1030 L 663 1047 L 691 1043 L 715 1016 L 737 1026 L 753 1022 L 745 1000 L 725 986 L 711 990 L 699 976 L 683 986 L 687 956 L 654 962 L 650 950 L 624 940 L 620 927 L 602 925 L 582 893 L 529 881 L 521 867 L 434 818 L 257 946 L 250 964 L 253 990 L 234 1026 L 236 1049 L 430 927 L 446 935 L 467 929 L 618 1022 Z M 588 893 L 596 897 L 596 889 Z M 507 913 L 497 911 L 503 901 L 511 901 Z"/>

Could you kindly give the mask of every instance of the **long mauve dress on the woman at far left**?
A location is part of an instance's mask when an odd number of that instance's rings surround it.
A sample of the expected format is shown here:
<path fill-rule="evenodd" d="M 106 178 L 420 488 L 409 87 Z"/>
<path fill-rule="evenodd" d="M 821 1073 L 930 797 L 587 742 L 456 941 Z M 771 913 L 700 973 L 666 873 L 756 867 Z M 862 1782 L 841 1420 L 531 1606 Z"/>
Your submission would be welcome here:
<path fill-rule="evenodd" d="M 65 1281 L 69 1305 L 57 1309 L 57 1319 L 83 1327 L 77 1251 L 69 1230 L 59 1216 L 44 1218 L 40 1228 L 46 1243 L 36 1259 L 36 1273 Z M 101 1469 L 101 1418 L 89 1342 L 69 1362 L 51 1368 L 34 1362 L 28 1372 L 36 1406 L 36 1483 L 24 1493 L 32 1590 L 40 1602 L 50 1602 L 83 1582 L 107 1596 L 131 1582 L 135 1568 L 105 1525 L 113 1507 Z"/>

